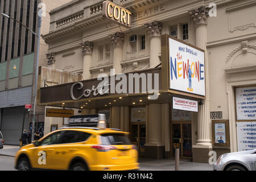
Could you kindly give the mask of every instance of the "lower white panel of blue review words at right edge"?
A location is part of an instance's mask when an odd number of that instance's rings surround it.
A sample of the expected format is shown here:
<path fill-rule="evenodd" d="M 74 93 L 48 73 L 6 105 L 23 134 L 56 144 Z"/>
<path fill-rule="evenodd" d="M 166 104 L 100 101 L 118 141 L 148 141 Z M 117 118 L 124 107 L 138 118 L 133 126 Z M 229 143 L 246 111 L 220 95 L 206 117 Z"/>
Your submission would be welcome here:
<path fill-rule="evenodd" d="M 256 122 L 237 122 L 238 151 L 256 148 Z"/>

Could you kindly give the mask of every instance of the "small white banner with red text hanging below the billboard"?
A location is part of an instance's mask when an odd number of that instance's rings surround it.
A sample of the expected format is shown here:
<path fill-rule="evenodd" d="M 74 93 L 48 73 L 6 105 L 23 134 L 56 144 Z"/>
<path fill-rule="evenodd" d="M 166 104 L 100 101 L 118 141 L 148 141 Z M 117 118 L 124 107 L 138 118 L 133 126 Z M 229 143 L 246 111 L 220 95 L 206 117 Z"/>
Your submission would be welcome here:
<path fill-rule="evenodd" d="M 184 98 L 173 97 L 172 109 L 198 112 L 198 102 Z"/>

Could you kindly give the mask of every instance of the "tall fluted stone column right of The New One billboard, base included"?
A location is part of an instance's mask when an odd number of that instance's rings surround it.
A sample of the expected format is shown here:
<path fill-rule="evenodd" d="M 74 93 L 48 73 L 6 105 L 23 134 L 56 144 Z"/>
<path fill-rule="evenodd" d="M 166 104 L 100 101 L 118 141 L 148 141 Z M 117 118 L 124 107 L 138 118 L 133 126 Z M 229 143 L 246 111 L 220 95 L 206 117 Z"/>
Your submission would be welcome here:
<path fill-rule="evenodd" d="M 211 140 L 211 121 L 210 121 L 210 109 L 209 109 L 209 67 L 208 67 L 208 52 L 207 52 L 207 18 L 209 17 L 209 9 L 204 6 L 195 10 L 190 10 L 189 14 L 192 16 L 192 20 L 196 26 L 196 47 L 205 50 L 205 88 L 206 99 L 203 105 L 199 106 L 198 113 L 198 135 L 196 146 L 193 146 L 193 160 L 195 162 L 208 162 L 208 153 L 212 148 Z M 197 158 L 197 154 L 198 156 Z"/>

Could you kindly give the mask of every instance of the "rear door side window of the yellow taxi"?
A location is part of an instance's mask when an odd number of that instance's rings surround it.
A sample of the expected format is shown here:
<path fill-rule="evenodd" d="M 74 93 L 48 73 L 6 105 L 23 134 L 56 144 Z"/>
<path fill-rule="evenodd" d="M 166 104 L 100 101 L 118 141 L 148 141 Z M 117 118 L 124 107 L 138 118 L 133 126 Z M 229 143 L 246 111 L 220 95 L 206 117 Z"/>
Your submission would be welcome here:
<path fill-rule="evenodd" d="M 65 131 L 61 143 L 84 142 L 91 134 L 81 131 Z"/>

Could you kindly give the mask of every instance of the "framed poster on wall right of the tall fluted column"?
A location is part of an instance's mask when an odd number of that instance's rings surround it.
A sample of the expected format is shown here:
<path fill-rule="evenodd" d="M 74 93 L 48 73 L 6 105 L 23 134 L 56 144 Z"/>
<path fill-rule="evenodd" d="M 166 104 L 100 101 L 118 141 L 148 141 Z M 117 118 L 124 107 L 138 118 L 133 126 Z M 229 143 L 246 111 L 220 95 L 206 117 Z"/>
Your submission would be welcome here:
<path fill-rule="evenodd" d="M 230 146 L 228 120 L 212 121 L 212 135 L 214 146 Z"/>

